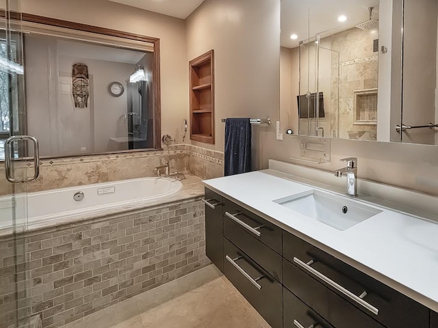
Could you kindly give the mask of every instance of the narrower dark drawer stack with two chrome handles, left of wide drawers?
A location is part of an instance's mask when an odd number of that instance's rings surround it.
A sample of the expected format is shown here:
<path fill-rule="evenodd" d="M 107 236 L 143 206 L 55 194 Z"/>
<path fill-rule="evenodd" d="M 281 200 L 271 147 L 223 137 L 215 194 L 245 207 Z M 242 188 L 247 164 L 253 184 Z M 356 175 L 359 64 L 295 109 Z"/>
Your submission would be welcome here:
<path fill-rule="evenodd" d="M 273 328 L 283 327 L 281 228 L 224 199 L 224 273 Z"/>

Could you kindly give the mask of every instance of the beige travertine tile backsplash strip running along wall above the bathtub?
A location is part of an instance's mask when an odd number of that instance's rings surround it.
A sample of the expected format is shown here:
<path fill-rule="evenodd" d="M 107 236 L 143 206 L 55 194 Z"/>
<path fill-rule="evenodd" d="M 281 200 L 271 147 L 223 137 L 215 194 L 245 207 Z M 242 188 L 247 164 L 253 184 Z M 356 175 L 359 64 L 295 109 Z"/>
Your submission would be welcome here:
<path fill-rule="evenodd" d="M 91 155 L 65 159 L 40 161 L 40 177 L 26 184 L 27 191 L 74 187 L 92 184 L 155 176 L 154 168 L 170 162 L 170 171 L 190 172 L 203 179 L 223 176 L 224 153 L 186 144 L 153 152 L 127 152 L 109 155 Z M 26 171 L 22 172 L 23 169 Z M 16 174 L 31 176 L 31 163 L 18 169 Z M 5 180 L 3 165 L 0 165 L 0 195 L 12 192 L 12 184 Z"/>

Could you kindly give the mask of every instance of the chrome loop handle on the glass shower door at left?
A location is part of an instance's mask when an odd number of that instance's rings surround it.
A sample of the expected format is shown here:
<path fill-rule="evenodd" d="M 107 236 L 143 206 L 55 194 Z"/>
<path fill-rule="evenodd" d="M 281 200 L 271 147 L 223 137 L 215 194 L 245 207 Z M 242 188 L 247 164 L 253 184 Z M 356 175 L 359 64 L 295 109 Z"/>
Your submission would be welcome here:
<path fill-rule="evenodd" d="M 31 178 L 23 178 L 23 179 L 16 179 L 12 176 L 12 151 L 11 146 L 12 143 L 16 140 L 30 140 L 34 143 L 34 176 Z M 9 182 L 16 183 L 16 182 L 30 182 L 34 181 L 38 178 L 40 175 L 40 144 L 38 143 L 38 139 L 35 137 L 31 137 L 30 135 L 13 135 L 12 137 L 9 137 L 5 141 L 5 174 L 6 179 Z"/>

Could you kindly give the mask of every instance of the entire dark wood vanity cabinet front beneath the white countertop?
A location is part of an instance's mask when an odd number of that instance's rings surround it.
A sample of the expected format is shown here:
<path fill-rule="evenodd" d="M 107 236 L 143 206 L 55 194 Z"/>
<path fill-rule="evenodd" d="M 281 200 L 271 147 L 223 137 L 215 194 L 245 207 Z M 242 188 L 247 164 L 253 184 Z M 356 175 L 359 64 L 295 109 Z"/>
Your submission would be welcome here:
<path fill-rule="evenodd" d="M 272 327 L 438 328 L 413 299 L 227 198 L 205 198 L 224 204 L 222 221 L 206 206 L 207 256 Z"/>

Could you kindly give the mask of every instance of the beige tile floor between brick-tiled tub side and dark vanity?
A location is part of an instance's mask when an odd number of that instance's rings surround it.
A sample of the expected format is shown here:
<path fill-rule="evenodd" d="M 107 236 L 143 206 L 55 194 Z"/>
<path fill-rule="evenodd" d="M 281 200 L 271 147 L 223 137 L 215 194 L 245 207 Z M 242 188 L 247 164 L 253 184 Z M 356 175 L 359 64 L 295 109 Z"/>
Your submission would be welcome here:
<path fill-rule="evenodd" d="M 62 328 L 270 328 L 213 266 Z"/>

